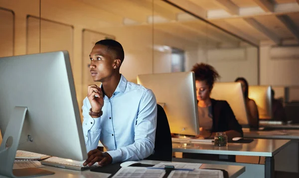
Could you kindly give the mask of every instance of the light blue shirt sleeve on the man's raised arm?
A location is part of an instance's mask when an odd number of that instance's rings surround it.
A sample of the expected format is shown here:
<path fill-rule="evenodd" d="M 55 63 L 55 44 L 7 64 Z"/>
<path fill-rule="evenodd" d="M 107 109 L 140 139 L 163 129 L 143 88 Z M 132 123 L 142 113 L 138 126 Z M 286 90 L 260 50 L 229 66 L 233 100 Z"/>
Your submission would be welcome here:
<path fill-rule="evenodd" d="M 101 117 L 99 118 L 92 118 L 89 115 L 89 110 L 91 105 L 89 103 L 88 98 L 86 97 L 83 100 L 83 135 L 86 145 L 87 153 L 91 150 L 94 150 L 98 147 L 100 134 L 101 134 Z"/>

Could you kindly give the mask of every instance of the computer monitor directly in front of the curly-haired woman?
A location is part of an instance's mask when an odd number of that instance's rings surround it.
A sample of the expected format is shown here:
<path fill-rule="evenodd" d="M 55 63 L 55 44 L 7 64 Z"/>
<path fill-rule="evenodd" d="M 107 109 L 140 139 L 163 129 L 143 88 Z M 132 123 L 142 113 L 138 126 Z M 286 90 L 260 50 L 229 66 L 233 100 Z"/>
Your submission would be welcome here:
<path fill-rule="evenodd" d="M 199 134 L 193 72 L 138 75 L 137 82 L 153 91 L 157 103 L 164 104 L 171 133 Z"/>

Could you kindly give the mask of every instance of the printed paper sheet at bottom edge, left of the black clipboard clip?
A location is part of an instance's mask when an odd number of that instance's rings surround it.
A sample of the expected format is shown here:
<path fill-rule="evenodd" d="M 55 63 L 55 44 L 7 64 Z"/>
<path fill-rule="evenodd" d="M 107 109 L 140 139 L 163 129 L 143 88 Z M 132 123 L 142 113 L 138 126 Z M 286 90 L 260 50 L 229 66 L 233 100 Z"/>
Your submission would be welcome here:
<path fill-rule="evenodd" d="M 165 170 L 123 167 L 112 178 L 163 178 Z"/>

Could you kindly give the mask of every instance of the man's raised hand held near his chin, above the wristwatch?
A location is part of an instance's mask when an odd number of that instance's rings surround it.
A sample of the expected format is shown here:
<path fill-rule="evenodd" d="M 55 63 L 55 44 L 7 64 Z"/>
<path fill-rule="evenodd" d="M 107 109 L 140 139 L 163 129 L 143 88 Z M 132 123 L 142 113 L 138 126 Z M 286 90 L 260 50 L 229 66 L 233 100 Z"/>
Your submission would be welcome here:
<path fill-rule="evenodd" d="M 88 85 L 87 98 L 91 104 L 91 111 L 99 113 L 104 106 L 103 92 L 97 85 Z"/>

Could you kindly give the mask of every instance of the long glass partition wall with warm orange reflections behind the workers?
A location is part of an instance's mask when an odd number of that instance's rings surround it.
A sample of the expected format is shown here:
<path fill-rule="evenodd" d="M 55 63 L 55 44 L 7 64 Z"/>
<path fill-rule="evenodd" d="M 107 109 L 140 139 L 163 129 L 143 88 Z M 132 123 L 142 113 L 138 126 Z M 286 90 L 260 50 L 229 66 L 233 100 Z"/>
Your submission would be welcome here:
<path fill-rule="evenodd" d="M 106 38 L 123 45 L 129 81 L 205 62 L 221 81 L 258 84 L 257 47 L 163 0 L 2 0 L 0 26 L 0 56 L 69 51 L 79 107 L 94 83 L 89 52 Z"/>

